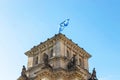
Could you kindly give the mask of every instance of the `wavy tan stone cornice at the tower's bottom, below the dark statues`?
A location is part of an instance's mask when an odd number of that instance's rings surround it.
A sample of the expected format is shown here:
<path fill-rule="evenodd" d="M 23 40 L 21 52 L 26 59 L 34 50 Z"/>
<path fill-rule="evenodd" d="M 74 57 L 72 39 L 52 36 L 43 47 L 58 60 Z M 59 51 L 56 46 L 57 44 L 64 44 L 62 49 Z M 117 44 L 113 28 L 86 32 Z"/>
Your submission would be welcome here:
<path fill-rule="evenodd" d="M 74 79 L 74 78 L 80 78 L 83 80 L 84 75 L 87 75 L 87 74 L 84 74 L 84 73 L 81 74 L 79 71 L 76 71 L 76 70 L 68 72 L 64 69 L 59 68 L 54 71 L 51 71 L 49 69 L 43 69 L 43 70 L 37 72 L 36 78 L 41 79 L 42 77 L 50 77 L 51 76 L 52 79 L 50 79 L 50 80 L 54 80 L 54 79 L 56 80 L 59 77 L 64 78 L 64 79 L 67 78 L 67 80 Z"/>

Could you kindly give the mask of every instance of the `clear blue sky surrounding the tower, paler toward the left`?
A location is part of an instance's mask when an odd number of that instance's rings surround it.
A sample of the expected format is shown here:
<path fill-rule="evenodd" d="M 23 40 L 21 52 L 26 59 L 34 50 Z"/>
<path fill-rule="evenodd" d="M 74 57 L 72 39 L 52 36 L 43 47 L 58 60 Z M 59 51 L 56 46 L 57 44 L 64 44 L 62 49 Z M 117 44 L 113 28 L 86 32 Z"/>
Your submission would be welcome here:
<path fill-rule="evenodd" d="M 99 80 L 120 80 L 119 0 L 0 0 L 0 80 L 16 80 L 24 52 L 62 32 L 92 55 Z"/>

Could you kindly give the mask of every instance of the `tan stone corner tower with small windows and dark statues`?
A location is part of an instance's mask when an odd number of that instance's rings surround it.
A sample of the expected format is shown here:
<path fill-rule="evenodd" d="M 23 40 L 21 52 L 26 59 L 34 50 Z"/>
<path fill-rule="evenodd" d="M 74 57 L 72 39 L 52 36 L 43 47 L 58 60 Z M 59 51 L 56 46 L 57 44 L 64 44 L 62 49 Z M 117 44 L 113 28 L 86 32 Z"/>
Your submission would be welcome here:
<path fill-rule="evenodd" d="M 27 69 L 23 66 L 17 80 L 88 80 L 91 77 L 88 67 L 91 55 L 61 33 L 34 46 L 25 55 Z"/>

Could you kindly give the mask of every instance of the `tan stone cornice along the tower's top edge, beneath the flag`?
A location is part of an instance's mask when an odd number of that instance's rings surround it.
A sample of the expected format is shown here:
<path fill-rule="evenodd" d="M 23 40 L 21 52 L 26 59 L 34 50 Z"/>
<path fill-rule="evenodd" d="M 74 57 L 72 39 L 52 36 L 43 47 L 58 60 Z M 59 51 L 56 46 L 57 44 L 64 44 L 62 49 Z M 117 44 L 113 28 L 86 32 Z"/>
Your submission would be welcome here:
<path fill-rule="evenodd" d="M 81 53 L 80 55 L 90 58 L 91 55 L 87 53 L 83 48 L 80 48 L 77 44 L 75 44 L 71 39 L 68 39 L 65 35 L 59 33 L 53 36 L 50 39 L 47 39 L 45 42 L 41 42 L 39 45 L 34 46 L 31 50 L 27 51 L 25 54 L 27 56 L 35 55 L 35 52 L 40 50 L 44 51 L 44 49 L 47 49 L 50 46 L 53 46 L 57 41 L 63 41 L 65 44 L 68 45 L 68 47 L 73 48 L 75 52 Z"/>

